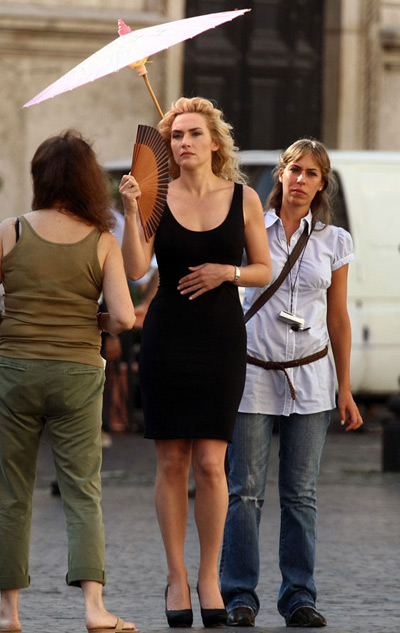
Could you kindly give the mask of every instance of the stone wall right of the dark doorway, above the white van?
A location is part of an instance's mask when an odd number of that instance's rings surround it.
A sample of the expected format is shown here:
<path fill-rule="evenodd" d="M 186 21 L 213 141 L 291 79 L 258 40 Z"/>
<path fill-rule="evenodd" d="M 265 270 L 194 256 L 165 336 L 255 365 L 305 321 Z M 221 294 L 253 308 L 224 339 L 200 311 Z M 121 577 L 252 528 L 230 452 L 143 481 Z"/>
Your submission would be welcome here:
<path fill-rule="evenodd" d="M 400 0 L 327 0 L 323 140 L 400 150 Z"/>

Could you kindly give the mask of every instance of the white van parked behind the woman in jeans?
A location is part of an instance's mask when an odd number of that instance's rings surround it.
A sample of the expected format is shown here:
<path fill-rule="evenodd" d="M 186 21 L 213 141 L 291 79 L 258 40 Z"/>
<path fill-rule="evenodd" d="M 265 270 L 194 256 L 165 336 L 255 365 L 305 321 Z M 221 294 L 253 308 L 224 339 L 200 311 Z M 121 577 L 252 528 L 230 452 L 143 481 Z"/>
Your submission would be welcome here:
<path fill-rule="evenodd" d="M 348 306 L 352 391 L 377 399 L 400 387 L 400 152 L 329 151 L 339 190 L 334 224 L 354 241 Z M 250 184 L 265 203 L 279 152 L 241 152 Z"/>

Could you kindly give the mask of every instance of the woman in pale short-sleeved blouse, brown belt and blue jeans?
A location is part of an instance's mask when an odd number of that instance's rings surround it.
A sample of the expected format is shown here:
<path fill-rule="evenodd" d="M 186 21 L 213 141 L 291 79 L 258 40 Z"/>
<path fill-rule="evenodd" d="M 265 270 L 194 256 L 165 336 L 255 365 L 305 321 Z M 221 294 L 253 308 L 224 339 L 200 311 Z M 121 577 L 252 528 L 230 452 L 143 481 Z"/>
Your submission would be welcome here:
<path fill-rule="evenodd" d="M 315 609 L 316 480 L 335 407 L 335 378 L 342 424 L 355 430 L 363 423 L 350 392 L 347 274 L 353 244 L 347 231 L 329 224 L 332 184 L 325 147 L 301 139 L 282 155 L 268 200 L 271 284 L 288 260 L 293 264 L 303 232 L 305 246 L 280 287 L 247 322 L 246 386 L 228 449 L 230 501 L 221 557 L 222 594 L 232 626 L 254 626 L 260 607 L 258 526 L 276 416 L 278 610 L 287 626 L 326 625 Z M 246 289 L 245 313 L 262 292 Z"/>

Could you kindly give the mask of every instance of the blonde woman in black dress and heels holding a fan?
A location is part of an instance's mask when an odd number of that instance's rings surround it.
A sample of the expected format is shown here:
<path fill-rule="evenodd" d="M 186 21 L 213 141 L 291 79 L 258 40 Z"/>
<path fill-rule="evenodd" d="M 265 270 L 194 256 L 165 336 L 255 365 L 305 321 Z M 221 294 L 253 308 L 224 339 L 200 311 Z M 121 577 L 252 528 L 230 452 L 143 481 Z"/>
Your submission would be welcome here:
<path fill-rule="evenodd" d="M 170 626 L 190 626 L 184 542 L 188 477 L 196 483 L 200 540 L 198 592 L 205 626 L 226 622 L 218 556 L 227 511 L 224 460 L 246 367 L 246 333 L 238 286 L 270 278 L 260 200 L 244 185 L 231 126 L 200 97 L 181 98 L 159 123 L 173 178 L 155 236 L 137 221 L 139 185 L 123 176 L 123 253 L 139 278 L 156 253 L 160 285 L 150 305 L 140 356 L 145 436 L 156 441 L 156 509 L 166 549 Z M 247 265 L 241 267 L 243 249 Z"/>

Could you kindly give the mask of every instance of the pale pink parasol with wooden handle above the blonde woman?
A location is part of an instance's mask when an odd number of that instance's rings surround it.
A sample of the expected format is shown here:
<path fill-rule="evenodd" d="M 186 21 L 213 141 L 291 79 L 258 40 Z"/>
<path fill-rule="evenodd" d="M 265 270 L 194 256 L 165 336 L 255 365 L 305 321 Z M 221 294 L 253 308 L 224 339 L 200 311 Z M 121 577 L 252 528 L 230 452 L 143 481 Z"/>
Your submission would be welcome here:
<path fill-rule="evenodd" d="M 162 117 L 162 111 L 157 103 L 151 86 L 146 77 L 145 62 L 150 55 L 184 42 L 187 39 L 203 33 L 211 28 L 219 26 L 224 22 L 233 20 L 250 9 L 236 9 L 235 11 L 222 11 L 220 13 L 209 13 L 193 18 L 166 22 L 149 28 L 131 31 L 130 28 L 119 20 L 119 35 L 117 39 L 110 42 L 96 53 L 85 59 L 70 70 L 68 73 L 57 79 L 50 86 L 39 92 L 36 97 L 24 104 L 27 108 L 46 99 L 55 97 L 69 90 L 74 90 L 100 77 L 105 77 L 113 72 L 132 66 L 143 76 L 147 87 Z"/>

